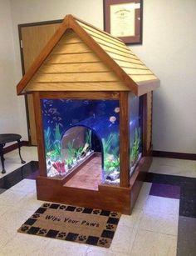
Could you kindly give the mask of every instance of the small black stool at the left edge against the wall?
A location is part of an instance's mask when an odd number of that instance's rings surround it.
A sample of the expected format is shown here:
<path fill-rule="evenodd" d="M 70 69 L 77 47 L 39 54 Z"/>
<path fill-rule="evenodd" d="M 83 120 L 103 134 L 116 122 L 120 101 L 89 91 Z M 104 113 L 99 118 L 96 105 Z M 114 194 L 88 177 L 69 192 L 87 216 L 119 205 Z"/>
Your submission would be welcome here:
<path fill-rule="evenodd" d="M 17 141 L 18 145 L 18 152 L 19 156 L 21 158 L 21 163 L 26 163 L 21 156 L 21 135 L 16 134 L 16 133 L 2 133 L 0 134 L 0 156 L 1 156 L 1 161 L 2 161 L 2 173 L 6 173 L 5 166 L 4 166 L 4 161 L 5 158 L 3 156 L 3 147 L 5 146 L 6 143 L 12 143 Z"/>

